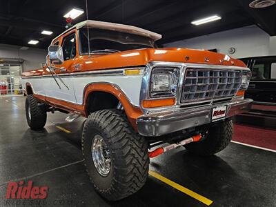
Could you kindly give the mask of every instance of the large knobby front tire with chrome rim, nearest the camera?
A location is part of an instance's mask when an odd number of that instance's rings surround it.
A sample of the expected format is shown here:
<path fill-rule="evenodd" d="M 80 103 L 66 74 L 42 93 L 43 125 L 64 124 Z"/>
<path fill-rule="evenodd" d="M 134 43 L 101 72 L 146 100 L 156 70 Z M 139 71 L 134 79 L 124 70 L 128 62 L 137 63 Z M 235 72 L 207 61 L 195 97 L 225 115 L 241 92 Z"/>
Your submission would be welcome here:
<path fill-rule="evenodd" d="M 136 193 L 148 177 L 148 142 L 121 110 L 93 112 L 83 127 L 83 158 L 92 184 L 115 201 Z"/>

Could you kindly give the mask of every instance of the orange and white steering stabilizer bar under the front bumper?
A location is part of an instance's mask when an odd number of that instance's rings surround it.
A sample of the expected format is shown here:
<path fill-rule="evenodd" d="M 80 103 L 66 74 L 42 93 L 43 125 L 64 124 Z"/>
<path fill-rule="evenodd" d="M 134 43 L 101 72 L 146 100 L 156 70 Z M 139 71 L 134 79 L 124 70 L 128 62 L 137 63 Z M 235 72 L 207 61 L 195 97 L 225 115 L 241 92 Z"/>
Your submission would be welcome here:
<path fill-rule="evenodd" d="M 188 139 L 184 139 L 182 141 L 179 141 L 178 143 L 170 144 L 170 145 L 164 146 L 162 148 L 157 148 L 157 149 L 153 150 L 152 152 L 148 152 L 148 157 L 150 157 L 150 158 L 157 157 L 158 155 L 161 155 L 164 152 L 168 152 L 169 150 L 179 148 L 179 146 L 184 146 L 184 145 L 189 144 L 191 142 L 199 141 L 201 138 L 202 138 L 202 136 L 199 134 L 199 135 L 195 135 L 193 137 L 190 137 Z"/>

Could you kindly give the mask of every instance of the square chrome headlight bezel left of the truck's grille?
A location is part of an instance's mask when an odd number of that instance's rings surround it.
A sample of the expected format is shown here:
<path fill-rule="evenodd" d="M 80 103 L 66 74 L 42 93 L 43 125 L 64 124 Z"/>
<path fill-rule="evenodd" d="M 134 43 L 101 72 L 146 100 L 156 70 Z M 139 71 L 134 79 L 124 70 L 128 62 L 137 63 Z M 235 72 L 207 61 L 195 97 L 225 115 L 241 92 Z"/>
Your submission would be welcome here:
<path fill-rule="evenodd" d="M 156 77 L 168 77 L 168 89 L 167 90 L 157 90 Z M 161 97 L 175 97 L 177 95 L 177 87 L 179 84 L 180 69 L 175 67 L 155 67 L 152 68 L 150 74 L 150 87 L 149 87 L 149 97 L 152 99 Z M 159 80 L 160 81 L 160 80 Z"/>

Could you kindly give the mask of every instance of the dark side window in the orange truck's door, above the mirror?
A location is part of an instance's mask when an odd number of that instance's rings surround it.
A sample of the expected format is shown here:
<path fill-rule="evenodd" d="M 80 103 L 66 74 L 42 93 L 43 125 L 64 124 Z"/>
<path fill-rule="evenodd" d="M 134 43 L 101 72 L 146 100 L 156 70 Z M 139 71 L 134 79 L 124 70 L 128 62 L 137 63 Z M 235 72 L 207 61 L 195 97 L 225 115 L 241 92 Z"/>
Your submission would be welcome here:
<path fill-rule="evenodd" d="M 73 59 L 76 56 L 75 33 L 68 35 L 62 43 L 64 60 Z"/>

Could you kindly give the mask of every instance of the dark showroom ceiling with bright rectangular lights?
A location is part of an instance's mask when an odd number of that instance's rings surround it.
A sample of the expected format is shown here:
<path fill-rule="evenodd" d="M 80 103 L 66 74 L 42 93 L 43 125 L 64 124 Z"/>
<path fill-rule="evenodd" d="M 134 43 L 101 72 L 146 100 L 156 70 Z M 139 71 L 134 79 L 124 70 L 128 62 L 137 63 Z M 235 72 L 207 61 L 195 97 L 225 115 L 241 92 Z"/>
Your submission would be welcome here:
<path fill-rule="evenodd" d="M 249 8 L 252 0 L 88 0 L 88 17 L 139 26 L 163 35 L 159 44 L 198 37 L 223 30 L 256 24 L 270 35 L 276 35 L 276 6 Z M 65 30 L 63 15 L 72 8 L 86 10 L 85 0 L 1 0 L 0 43 L 29 46 L 37 39 L 36 48 L 47 48 L 52 38 Z M 219 14 L 219 21 L 201 26 L 190 24 L 195 19 Z M 86 19 L 86 14 L 73 23 Z M 51 36 L 40 34 L 51 30 Z"/>

